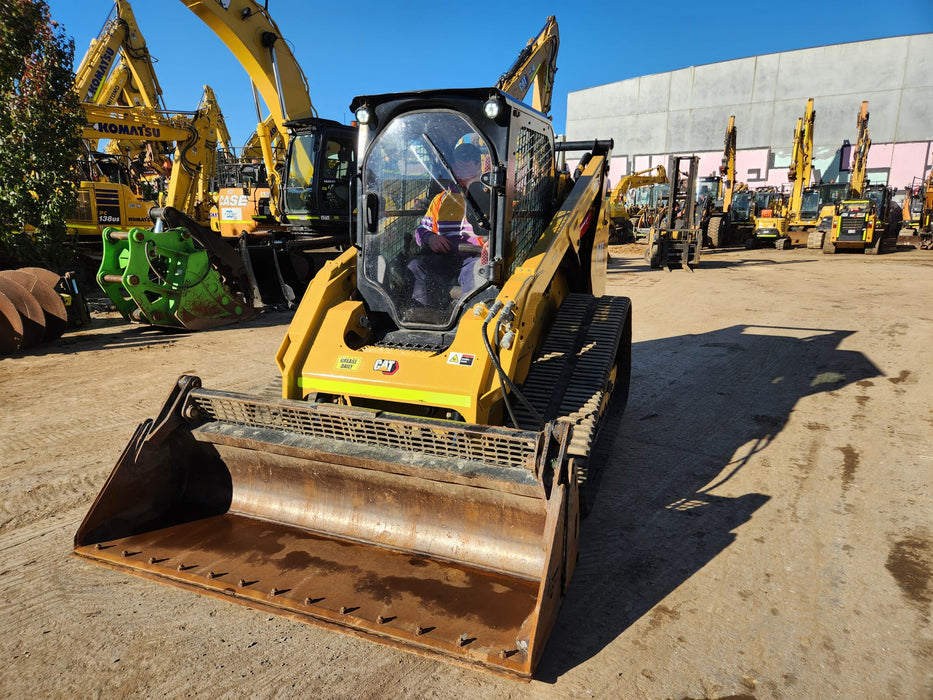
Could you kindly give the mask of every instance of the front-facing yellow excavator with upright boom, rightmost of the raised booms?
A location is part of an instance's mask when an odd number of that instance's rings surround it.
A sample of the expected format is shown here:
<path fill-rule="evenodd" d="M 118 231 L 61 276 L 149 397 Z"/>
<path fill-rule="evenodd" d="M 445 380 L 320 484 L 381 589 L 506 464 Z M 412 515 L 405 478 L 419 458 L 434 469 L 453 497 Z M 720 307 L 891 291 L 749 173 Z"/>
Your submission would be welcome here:
<path fill-rule="evenodd" d="M 860 250 L 873 255 L 882 252 L 885 239 L 897 236 L 901 224 L 900 210 L 894 205 L 890 189 L 885 185 L 868 183 L 870 148 L 868 102 L 862 102 L 848 196 L 834 208 L 829 235 L 824 237 L 824 253 Z"/>

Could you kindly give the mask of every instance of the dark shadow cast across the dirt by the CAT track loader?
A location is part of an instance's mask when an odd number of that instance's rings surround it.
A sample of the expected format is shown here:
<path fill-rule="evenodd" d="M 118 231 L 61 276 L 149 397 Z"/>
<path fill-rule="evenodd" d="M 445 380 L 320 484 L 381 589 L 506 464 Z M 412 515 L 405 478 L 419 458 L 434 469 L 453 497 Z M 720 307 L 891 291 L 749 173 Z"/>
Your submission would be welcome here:
<path fill-rule="evenodd" d="M 597 497 L 539 680 L 556 681 L 645 615 L 660 625 L 677 614 L 659 603 L 771 498 L 709 491 L 767 452 L 801 398 L 880 375 L 839 349 L 853 333 L 733 326 L 634 345 L 629 405 L 592 460 Z"/>

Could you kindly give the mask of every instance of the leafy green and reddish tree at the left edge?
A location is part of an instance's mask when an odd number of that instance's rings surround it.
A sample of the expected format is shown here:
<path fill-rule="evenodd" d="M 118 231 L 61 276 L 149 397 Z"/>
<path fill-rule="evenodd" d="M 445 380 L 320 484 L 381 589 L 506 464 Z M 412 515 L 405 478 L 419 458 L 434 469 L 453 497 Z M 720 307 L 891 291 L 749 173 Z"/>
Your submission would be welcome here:
<path fill-rule="evenodd" d="M 0 0 L 0 262 L 59 268 L 77 204 L 84 112 L 74 41 L 45 0 Z"/>

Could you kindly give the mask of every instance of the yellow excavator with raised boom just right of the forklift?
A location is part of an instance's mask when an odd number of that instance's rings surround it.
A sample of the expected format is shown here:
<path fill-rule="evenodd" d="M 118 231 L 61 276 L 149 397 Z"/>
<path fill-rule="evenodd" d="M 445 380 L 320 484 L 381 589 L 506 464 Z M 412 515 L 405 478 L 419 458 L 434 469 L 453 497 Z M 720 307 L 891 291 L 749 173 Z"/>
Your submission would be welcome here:
<path fill-rule="evenodd" d="M 723 139 L 719 176 L 699 179 L 698 206 L 704 245 L 722 248 L 747 241 L 755 230 L 752 198 L 744 183 L 735 177 L 735 116 L 729 117 Z M 706 191 L 704 192 L 704 188 Z"/>

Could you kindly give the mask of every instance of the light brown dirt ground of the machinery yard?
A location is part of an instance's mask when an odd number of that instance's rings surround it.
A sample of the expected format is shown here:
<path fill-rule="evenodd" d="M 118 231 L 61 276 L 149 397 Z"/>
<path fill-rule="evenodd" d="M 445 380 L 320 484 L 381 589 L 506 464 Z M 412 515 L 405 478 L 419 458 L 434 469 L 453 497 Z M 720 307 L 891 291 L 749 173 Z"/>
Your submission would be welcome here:
<path fill-rule="evenodd" d="M 96 315 L 0 358 L 6 697 L 933 697 L 933 252 L 613 249 L 631 397 L 530 683 L 86 563 L 73 534 L 182 373 L 250 391 L 290 315 Z"/>

